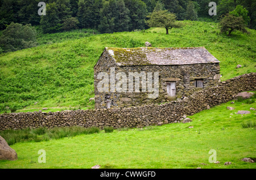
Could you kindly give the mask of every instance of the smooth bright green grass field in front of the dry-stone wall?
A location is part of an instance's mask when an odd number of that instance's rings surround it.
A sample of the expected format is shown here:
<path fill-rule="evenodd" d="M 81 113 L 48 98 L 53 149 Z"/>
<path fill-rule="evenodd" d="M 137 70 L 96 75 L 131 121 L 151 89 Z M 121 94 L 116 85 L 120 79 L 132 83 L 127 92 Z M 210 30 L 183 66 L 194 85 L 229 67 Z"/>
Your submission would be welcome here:
<path fill-rule="evenodd" d="M 226 107 L 235 109 L 230 111 Z M 115 129 L 112 133 L 93 133 L 15 143 L 16 161 L 0 161 L 0 168 L 245 168 L 255 163 L 241 161 L 256 158 L 256 115 L 248 101 L 230 102 L 201 111 L 190 123 L 172 123 L 133 129 Z M 251 113 L 240 115 L 238 110 Z M 254 125 L 245 125 L 254 124 Z M 188 127 L 193 128 L 188 128 Z M 0 132 L 1 135 L 1 132 Z M 38 151 L 46 151 L 46 163 L 39 164 Z M 217 161 L 209 162 L 211 149 Z M 224 165 L 225 162 L 231 165 Z M 206 165 L 203 165 L 203 164 Z"/>

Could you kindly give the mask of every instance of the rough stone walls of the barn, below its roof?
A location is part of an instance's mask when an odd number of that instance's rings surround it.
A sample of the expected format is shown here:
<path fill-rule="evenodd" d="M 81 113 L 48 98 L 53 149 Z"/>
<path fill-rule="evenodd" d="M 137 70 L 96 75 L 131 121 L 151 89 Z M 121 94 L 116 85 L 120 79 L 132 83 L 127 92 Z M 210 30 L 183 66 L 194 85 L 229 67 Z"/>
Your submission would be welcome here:
<path fill-rule="evenodd" d="M 114 68 L 113 71 L 110 68 Z M 98 91 L 98 84 L 102 79 L 98 79 L 98 74 L 106 72 L 108 74 L 108 92 Z M 127 88 L 123 92 L 113 92 L 110 85 L 110 78 L 116 79 L 117 73 L 122 72 L 127 78 Z M 154 88 L 154 73 L 159 73 L 158 79 L 158 96 L 156 98 L 148 98 L 148 92 L 142 92 L 142 78 L 140 77 L 139 92 L 135 92 L 135 77 L 133 81 L 133 92 L 129 91 L 129 73 L 145 73 L 144 82 L 147 81 L 148 72 L 152 73 L 152 87 Z M 122 79 L 122 78 L 121 78 Z M 175 81 L 176 97 L 187 97 L 195 91 L 201 90 L 200 87 L 195 87 L 195 79 L 203 79 L 204 88 L 217 85 L 220 81 L 220 65 L 218 63 L 202 63 L 202 64 L 186 64 L 186 65 L 133 65 L 133 66 L 118 66 L 109 53 L 102 53 L 102 56 L 96 66 L 94 66 L 94 94 L 95 108 L 106 108 L 107 99 L 110 100 L 111 107 L 131 107 L 142 104 L 163 103 L 168 102 L 170 98 L 167 96 L 167 82 Z M 116 85 L 116 83 L 115 83 Z M 122 85 L 121 85 L 122 86 Z"/>

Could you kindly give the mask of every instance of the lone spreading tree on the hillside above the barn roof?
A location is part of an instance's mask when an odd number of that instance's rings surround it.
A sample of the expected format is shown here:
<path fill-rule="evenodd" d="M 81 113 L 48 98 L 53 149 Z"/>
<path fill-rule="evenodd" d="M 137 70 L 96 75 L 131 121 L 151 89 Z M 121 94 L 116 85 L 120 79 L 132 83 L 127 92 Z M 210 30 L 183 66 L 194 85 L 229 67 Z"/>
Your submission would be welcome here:
<path fill-rule="evenodd" d="M 171 30 L 173 27 L 179 27 L 179 24 L 176 23 L 176 16 L 168 10 L 154 11 L 147 16 L 149 19 L 146 21 L 150 27 L 163 27 L 166 29 L 166 34 L 168 35 L 168 30 Z"/>

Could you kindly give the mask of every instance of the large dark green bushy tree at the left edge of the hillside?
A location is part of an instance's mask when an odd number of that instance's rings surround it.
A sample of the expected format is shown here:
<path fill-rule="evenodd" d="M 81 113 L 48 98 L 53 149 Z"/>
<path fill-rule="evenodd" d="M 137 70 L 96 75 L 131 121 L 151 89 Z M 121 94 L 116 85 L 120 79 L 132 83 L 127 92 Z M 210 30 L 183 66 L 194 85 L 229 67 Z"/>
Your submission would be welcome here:
<path fill-rule="evenodd" d="M 24 48 L 36 47 L 36 30 L 31 24 L 23 26 L 12 22 L 2 31 L 0 47 L 4 52 L 18 51 Z"/>

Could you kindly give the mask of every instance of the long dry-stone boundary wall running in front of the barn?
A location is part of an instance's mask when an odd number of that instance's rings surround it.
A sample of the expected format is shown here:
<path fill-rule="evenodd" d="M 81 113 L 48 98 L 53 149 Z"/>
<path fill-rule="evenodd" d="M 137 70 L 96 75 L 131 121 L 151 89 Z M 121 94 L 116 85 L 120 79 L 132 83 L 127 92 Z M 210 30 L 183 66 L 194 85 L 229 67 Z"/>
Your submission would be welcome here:
<path fill-rule="evenodd" d="M 144 127 L 159 122 L 171 123 L 179 121 L 184 116 L 225 103 L 233 99 L 233 95 L 242 91 L 256 90 L 256 73 L 243 74 L 217 86 L 208 87 L 193 93 L 191 96 L 164 104 L 146 104 L 128 108 L 110 108 L 98 110 L 76 110 L 61 112 L 19 112 L 0 115 L 0 130 L 67 127 L 80 125 L 82 127 L 106 126 Z"/>

